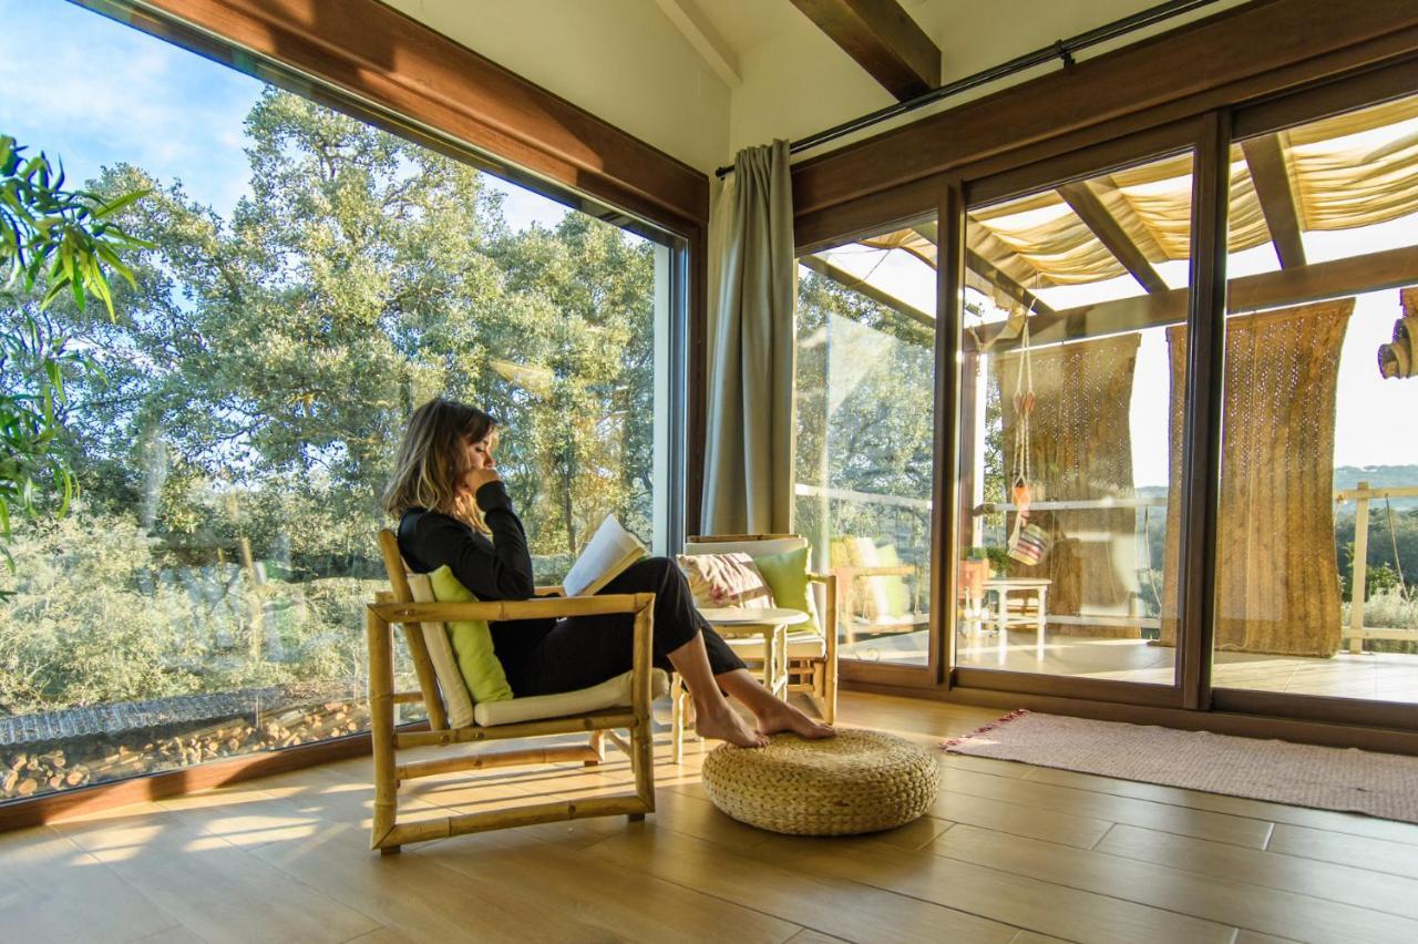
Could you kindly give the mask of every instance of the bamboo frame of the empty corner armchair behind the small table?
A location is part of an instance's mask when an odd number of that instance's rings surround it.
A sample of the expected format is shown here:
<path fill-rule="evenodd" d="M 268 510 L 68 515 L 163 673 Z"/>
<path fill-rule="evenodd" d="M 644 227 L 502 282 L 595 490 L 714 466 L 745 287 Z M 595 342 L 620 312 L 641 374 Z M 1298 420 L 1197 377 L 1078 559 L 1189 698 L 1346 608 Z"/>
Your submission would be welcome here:
<path fill-rule="evenodd" d="M 689 537 L 685 541 L 685 553 L 712 554 L 743 550 L 744 547 L 752 549 L 754 543 L 767 544 L 770 541 L 801 541 L 800 547 L 807 546 L 807 541 L 798 534 L 703 534 Z M 749 553 L 753 554 L 752 550 Z M 759 556 L 766 553 L 774 551 L 763 550 L 759 551 Z M 810 632 L 791 634 L 788 636 L 788 692 L 805 693 L 822 720 L 831 724 L 837 720 L 837 631 L 832 624 L 835 622 L 838 605 L 838 578 L 832 573 L 820 574 L 810 571 L 808 583 L 808 592 L 813 592 L 811 585 L 817 584 L 822 587 L 825 594 L 827 605 L 818 612 L 822 638 L 815 639 Z M 763 642 L 754 639 L 735 639 L 730 645 L 747 661 L 756 658 L 754 646 L 759 651 L 763 649 Z M 685 687 L 675 685 L 671 696 L 674 697 L 678 730 L 683 724 Z M 675 751 L 678 763 L 678 741 L 675 741 Z"/>

